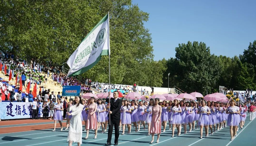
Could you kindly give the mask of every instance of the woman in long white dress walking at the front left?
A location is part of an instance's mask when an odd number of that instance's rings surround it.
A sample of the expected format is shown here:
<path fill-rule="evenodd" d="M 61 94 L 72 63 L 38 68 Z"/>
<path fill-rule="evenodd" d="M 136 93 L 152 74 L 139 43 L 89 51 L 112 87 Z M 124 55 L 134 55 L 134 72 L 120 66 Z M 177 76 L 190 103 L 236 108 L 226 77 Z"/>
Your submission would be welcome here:
<path fill-rule="evenodd" d="M 68 116 L 72 115 L 70 120 L 70 127 L 68 131 L 68 146 L 72 146 L 73 142 L 77 142 L 77 145 L 80 146 L 82 143 L 82 120 L 81 114 L 84 106 L 82 105 L 81 97 L 75 97 L 73 105 L 70 105 Z"/>

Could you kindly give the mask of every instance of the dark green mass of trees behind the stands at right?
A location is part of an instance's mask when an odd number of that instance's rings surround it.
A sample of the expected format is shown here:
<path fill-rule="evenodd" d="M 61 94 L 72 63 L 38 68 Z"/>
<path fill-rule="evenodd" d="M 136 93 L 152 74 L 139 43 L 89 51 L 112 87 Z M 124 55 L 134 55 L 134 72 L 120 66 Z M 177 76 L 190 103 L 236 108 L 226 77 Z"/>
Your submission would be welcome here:
<path fill-rule="evenodd" d="M 205 43 L 190 41 L 176 47 L 176 58 L 166 61 L 163 87 L 177 86 L 190 92 L 206 94 L 218 91 L 219 86 L 235 90 L 256 89 L 256 41 L 250 43 L 244 54 L 233 58 L 210 54 Z"/>

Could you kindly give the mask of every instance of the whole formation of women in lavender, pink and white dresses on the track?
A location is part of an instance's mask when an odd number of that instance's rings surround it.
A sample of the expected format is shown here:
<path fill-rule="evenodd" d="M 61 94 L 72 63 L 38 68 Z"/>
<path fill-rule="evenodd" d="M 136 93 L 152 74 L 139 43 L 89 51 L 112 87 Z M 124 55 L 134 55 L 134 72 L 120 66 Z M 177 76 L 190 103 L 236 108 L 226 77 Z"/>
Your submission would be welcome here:
<path fill-rule="evenodd" d="M 57 111 L 62 109 L 63 107 L 61 106 L 56 107 Z M 85 140 L 88 138 L 89 130 L 94 130 L 94 138 L 97 138 L 97 132 L 100 128 L 102 133 L 106 132 L 109 109 L 108 103 L 105 103 L 102 99 L 96 101 L 94 97 L 88 100 L 75 97 L 73 103 L 68 103 L 67 128 L 65 130 L 69 128 L 69 144 L 72 145 L 72 142 L 78 142 L 78 146 L 80 146 L 82 141 L 82 120 L 85 121 Z M 141 128 L 146 130 L 147 124 L 147 135 L 152 136 L 150 141 L 150 144 L 152 144 L 155 134 L 157 134 L 156 142 L 159 142 L 160 134 L 166 131 L 167 124 L 169 125 L 169 130 L 172 130 L 172 135 L 170 135 L 172 137 L 174 137 L 175 130 L 177 130 L 177 136 L 180 136 L 183 127 L 184 134 L 200 128 L 200 138 L 203 137 L 203 130 L 205 130 L 205 137 L 208 137 L 217 130 L 229 126 L 231 140 L 233 140 L 238 131 L 238 126 L 240 126 L 240 129 L 244 126 L 247 111 L 248 107 L 246 105 L 241 103 L 236 105 L 234 100 L 225 104 L 214 101 L 206 102 L 204 100 L 198 103 L 194 101 L 178 101 L 176 99 L 162 102 L 157 98 L 149 101 L 129 101 L 124 99 L 120 109 L 119 130 L 122 130 L 122 134 L 125 134 L 125 132 L 130 134 L 132 127 L 135 132 L 139 132 Z M 253 106 L 253 111 L 250 111 L 253 113 L 252 120 L 255 118 L 255 111 L 256 109 Z M 60 116 L 57 114 L 61 114 L 61 112 L 54 114 L 53 131 L 55 131 L 56 121 L 58 120 L 61 124 L 62 120 L 58 118 Z M 161 130 L 162 128 L 163 131 Z"/>

